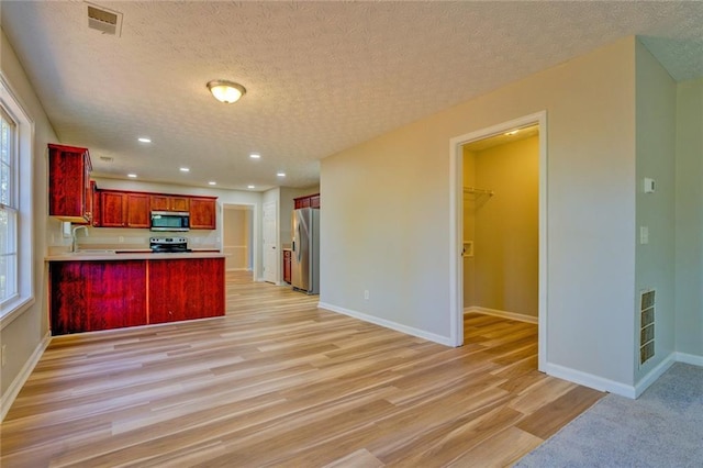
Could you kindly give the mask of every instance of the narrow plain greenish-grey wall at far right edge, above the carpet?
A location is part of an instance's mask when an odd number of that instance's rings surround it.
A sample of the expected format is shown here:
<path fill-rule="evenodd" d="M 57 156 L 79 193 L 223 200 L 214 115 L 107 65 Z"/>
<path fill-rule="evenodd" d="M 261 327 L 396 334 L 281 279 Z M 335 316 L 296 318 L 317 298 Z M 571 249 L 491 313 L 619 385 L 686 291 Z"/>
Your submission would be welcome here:
<path fill-rule="evenodd" d="M 703 79 L 677 90 L 676 339 L 703 364 Z M 698 360 L 696 360 L 698 359 Z"/>

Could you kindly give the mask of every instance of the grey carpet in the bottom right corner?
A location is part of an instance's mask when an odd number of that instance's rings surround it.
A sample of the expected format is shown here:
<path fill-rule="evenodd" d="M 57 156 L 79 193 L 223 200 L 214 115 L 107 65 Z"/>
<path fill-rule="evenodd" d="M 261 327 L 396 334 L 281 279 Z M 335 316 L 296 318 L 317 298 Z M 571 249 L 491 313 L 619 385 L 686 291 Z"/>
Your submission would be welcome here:
<path fill-rule="evenodd" d="M 677 363 L 637 400 L 615 394 L 516 467 L 703 467 L 703 367 Z"/>

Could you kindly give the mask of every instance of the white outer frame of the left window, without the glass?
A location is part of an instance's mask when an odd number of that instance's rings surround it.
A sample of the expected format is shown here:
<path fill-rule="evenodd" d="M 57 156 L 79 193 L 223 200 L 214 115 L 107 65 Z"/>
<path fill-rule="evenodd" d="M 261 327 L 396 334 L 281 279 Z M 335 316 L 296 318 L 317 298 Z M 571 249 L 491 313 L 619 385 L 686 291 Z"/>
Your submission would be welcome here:
<path fill-rule="evenodd" d="M 16 208 L 16 291 L 0 305 L 0 330 L 16 319 L 34 303 L 34 219 L 32 210 L 34 170 L 34 122 L 29 116 L 18 94 L 0 73 L 0 105 L 16 124 L 14 182 Z"/>

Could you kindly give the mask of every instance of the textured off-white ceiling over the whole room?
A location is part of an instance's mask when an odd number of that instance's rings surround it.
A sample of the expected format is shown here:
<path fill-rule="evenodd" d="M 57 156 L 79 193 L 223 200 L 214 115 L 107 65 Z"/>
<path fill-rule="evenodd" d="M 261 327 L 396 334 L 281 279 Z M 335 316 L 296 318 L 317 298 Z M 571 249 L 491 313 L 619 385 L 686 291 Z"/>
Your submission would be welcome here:
<path fill-rule="evenodd" d="M 312 186 L 325 156 L 633 34 L 703 76 L 703 2 L 94 3 L 120 37 L 81 1 L 5 0 L 0 21 L 62 143 L 109 177 Z M 247 93 L 219 103 L 212 79 Z"/>

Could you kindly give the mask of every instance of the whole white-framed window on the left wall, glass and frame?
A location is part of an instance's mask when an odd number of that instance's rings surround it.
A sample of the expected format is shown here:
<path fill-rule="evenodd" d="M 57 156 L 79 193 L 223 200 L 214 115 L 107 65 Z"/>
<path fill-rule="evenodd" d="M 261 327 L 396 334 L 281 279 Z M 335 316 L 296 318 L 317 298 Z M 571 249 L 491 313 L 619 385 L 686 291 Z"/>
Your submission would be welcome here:
<path fill-rule="evenodd" d="M 34 301 L 34 124 L 0 74 L 0 328 Z"/>

